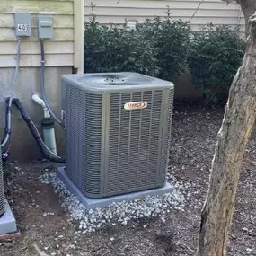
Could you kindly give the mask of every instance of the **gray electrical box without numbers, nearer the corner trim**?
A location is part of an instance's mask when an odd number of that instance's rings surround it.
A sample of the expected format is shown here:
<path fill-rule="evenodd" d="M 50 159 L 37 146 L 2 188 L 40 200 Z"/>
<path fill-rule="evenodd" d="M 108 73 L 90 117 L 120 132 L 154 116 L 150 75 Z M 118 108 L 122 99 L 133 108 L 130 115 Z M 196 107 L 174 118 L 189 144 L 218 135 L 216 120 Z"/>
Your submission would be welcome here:
<path fill-rule="evenodd" d="M 53 19 L 49 15 L 40 15 L 38 17 L 39 38 L 52 39 L 53 38 Z"/>

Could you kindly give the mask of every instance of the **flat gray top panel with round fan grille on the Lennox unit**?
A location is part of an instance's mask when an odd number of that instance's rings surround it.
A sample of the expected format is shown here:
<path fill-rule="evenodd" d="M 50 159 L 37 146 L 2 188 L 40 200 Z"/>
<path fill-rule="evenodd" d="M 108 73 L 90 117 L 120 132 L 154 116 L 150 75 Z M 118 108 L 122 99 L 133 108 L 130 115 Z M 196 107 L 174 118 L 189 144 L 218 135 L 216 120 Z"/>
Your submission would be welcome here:
<path fill-rule="evenodd" d="M 108 74 L 83 74 L 83 75 L 63 75 L 62 79 L 67 84 L 89 91 L 92 93 L 109 93 L 117 91 L 130 91 L 137 89 L 154 90 L 159 87 L 170 88 L 170 83 L 161 79 L 140 75 L 137 73 L 108 73 Z M 96 86 L 95 86 L 96 85 Z"/>

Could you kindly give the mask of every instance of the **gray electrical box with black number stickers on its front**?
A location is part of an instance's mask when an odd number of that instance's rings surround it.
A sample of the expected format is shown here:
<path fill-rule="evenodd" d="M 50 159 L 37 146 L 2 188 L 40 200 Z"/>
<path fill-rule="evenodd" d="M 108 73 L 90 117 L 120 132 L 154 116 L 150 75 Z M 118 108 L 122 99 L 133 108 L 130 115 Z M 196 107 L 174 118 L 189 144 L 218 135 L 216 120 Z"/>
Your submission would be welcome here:
<path fill-rule="evenodd" d="M 31 37 L 30 13 L 15 13 L 15 32 L 17 37 Z"/>

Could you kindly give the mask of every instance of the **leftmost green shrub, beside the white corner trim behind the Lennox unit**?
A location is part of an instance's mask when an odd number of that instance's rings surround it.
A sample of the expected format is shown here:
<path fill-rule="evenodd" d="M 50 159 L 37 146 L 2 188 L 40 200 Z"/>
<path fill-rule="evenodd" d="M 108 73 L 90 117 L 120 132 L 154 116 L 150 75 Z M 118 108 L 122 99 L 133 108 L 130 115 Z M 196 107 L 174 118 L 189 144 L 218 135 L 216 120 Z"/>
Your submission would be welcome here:
<path fill-rule="evenodd" d="M 140 31 L 85 23 L 85 72 L 139 72 L 157 76 L 157 53 L 152 40 Z"/>

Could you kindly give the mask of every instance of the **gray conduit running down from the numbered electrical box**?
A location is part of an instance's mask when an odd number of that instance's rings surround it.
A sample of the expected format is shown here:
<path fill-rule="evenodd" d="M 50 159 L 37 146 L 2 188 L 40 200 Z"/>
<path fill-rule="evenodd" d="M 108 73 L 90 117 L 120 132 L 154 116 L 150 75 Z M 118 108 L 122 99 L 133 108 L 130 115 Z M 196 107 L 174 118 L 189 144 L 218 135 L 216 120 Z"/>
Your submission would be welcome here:
<path fill-rule="evenodd" d="M 10 95 L 10 100 L 9 103 L 6 105 L 6 116 L 5 116 L 5 130 L 4 130 L 4 138 L 1 142 L 1 147 L 5 146 L 9 140 L 9 138 L 11 137 L 11 108 L 12 108 L 12 103 L 13 103 L 13 97 L 14 97 L 14 92 L 15 92 L 15 85 L 17 84 L 17 79 L 18 79 L 18 75 L 19 75 L 19 70 L 20 70 L 20 56 L 21 56 L 21 43 L 22 40 L 21 38 L 18 38 L 18 43 L 17 43 L 17 49 L 16 49 L 16 64 L 15 64 L 15 73 L 14 73 L 14 77 L 13 77 L 13 84 L 12 84 L 12 88 L 11 88 L 11 95 Z"/>

